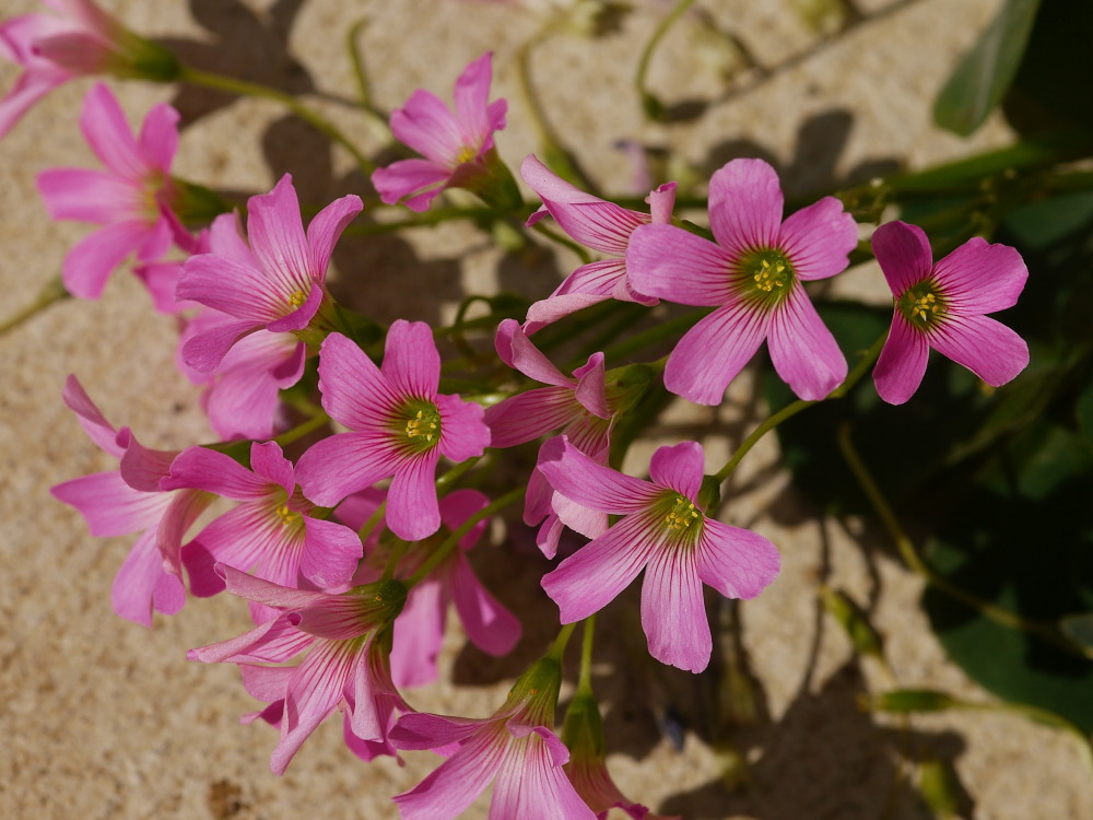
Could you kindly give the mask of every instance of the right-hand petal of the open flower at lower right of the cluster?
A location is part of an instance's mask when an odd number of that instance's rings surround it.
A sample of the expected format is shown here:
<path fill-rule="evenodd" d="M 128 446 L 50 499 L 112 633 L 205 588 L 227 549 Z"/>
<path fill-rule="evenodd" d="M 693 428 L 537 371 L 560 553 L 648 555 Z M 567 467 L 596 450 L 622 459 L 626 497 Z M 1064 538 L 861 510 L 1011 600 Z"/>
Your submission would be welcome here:
<path fill-rule="evenodd" d="M 698 577 L 727 598 L 754 598 L 778 576 L 781 559 L 757 532 L 709 518 L 697 547 Z"/>

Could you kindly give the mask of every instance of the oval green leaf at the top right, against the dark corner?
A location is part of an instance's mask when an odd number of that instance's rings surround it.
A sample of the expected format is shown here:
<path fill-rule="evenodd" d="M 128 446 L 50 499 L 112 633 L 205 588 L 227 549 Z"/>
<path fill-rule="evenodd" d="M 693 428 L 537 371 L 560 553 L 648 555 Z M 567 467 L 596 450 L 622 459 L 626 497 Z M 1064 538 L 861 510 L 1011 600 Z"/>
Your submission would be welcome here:
<path fill-rule="evenodd" d="M 1007 0 L 933 104 L 933 121 L 966 137 L 1001 102 L 1029 44 L 1039 0 Z"/>

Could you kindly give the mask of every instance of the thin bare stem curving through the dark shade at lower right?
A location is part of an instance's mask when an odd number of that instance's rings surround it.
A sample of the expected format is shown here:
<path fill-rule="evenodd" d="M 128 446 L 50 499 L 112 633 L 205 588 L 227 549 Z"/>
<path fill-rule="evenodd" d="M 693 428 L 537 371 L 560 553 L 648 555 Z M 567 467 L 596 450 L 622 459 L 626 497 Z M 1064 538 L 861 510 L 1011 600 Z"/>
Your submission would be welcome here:
<path fill-rule="evenodd" d="M 918 554 L 915 549 L 915 544 L 912 542 L 910 538 L 907 537 L 907 534 L 904 532 L 903 527 L 900 525 L 900 519 L 896 517 L 891 505 L 888 503 L 884 494 L 877 485 L 877 482 L 873 481 L 873 477 L 869 472 L 865 462 L 858 456 L 858 453 L 854 447 L 854 443 L 850 441 L 850 425 L 848 423 L 844 423 L 838 430 L 838 447 L 842 450 L 846 462 L 849 465 L 850 470 L 854 472 L 855 478 L 858 479 L 858 483 L 861 484 L 861 489 L 866 492 L 866 495 L 869 496 L 869 501 L 872 503 L 873 509 L 884 524 L 884 528 L 889 531 L 889 536 L 891 536 L 892 540 L 895 541 L 896 549 L 900 551 L 900 555 L 903 558 L 904 563 L 907 564 L 907 566 L 917 575 L 920 575 L 927 584 L 936 588 L 938 591 L 948 595 L 950 598 L 959 600 L 961 604 L 974 609 L 995 623 L 1009 629 L 1018 630 L 1020 632 L 1025 632 L 1031 635 L 1036 635 L 1070 654 L 1093 658 L 1093 648 L 1079 646 L 1070 641 L 1067 641 L 1066 637 L 1058 633 L 1055 624 L 1045 621 L 1030 620 L 1023 618 L 1016 612 L 1011 612 L 1010 610 L 996 606 L 990 601 L 983 600 L 963 587 L 956 586 L 943 575 L 935 572 Z"/>

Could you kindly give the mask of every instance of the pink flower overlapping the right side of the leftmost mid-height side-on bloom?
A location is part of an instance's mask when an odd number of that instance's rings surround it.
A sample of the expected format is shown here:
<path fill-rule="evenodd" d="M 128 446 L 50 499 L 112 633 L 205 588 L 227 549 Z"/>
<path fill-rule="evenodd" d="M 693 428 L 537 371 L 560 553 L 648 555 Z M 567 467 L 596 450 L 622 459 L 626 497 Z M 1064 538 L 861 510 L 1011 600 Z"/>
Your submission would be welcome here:
<path fill-rule="evenodd" d="M 250 468 L 254 472 L 223 453 L 190 447 L 160 482 L 163 490 L 190 488 L 240 502 L 183 548 L 190 591 L 205 597 L 224 588 L 213 569 L 219 562 L 290 588 L 301 587 L 301 577 L 317 588 L 348 584 L 364 555 L 356 532 L 316 517 L 277 442 L 251 444 Z"/>

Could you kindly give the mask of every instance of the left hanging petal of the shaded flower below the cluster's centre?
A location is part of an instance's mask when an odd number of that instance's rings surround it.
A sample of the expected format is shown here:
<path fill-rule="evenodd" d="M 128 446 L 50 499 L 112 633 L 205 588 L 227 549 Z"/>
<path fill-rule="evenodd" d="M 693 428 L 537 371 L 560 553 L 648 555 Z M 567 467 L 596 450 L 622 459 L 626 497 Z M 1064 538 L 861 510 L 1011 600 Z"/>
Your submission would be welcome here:
<path fill-rule="evenodd" d="M 391 678 L 398 687 L 421 687 L 437 678 L 436 658 L 444 641 L 448 608 L 440 581 L 426 577 L 410 590 L 395 619 Z"/>

